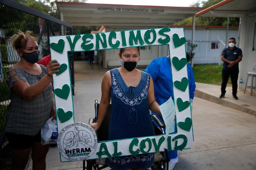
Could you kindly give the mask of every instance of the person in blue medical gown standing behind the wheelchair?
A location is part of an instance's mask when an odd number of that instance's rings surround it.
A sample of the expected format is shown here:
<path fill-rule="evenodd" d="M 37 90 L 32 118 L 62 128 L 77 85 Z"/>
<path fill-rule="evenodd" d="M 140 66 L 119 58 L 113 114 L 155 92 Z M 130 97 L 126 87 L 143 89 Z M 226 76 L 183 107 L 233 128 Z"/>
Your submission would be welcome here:
<path fill-rule="evenodd" d="M 193 70 L 188 63 L 187 63 L 187 68 L 188 68 L 189 98 L 192 106 L 196 84 L 195 84 Z M 164 56 L 164 57 L 160 57 L 152 60 L 152 62 L 146 68 L 145 72 L 149 73 L 153 79 L 156 102 L 159 105 L 161 105 L 164 102 L 166 102 L 168 99 L 170 99 L 170 97 L 172 97 L 172 100 L 173 100 L 173 85 L 172 85 L 172 72 L 170 67 L 170 57 Z M 156 113 L 153 113 L 153 112 L 151 112 L 151 114 L 156 115 L 163 120 L 163 117 L 161 115 L 157 115 Z M 175 124 L 174 133 L 177 132 L 176 129 L 177 128 Z M 178 152 L 169 151 L 168 157 L 169 159 L 171 159 L 169 162 L 169 170 L 170 170 L 178 162 Z"/>

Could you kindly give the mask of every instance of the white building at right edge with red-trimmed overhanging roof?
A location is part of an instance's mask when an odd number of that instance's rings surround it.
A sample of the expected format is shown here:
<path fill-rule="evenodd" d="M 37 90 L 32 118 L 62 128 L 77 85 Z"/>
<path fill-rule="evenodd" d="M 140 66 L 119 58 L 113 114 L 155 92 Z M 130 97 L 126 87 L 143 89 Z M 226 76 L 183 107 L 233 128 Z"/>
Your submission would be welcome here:
<path fill-rule="evenodd" d="M 255 0 L 224 0 L 203 11 L 196 13 L 196 17 L 240 17 L 239 44 L 243 51 L 242 61 L 239 63 L 238 81 L 244 82 L 247 73 L 252 72 L 253 64 L 256 64 L 256 1 Z M 256 78 L 247 85 L 256 86 Z"/>

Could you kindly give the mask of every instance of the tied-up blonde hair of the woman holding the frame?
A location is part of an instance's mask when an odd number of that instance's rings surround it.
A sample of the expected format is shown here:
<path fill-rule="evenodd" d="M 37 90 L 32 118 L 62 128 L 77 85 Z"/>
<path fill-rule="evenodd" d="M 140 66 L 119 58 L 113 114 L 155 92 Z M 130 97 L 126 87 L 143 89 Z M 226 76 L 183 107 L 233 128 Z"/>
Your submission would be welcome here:
<path fill-rule="evenodd" d="M 22 31 L 17 31 L 17 34 L 12 35 L 11 39 L 12 39 L 12 47 L 15 48 L 16 50 L 24 50 L 26 48 L 27 45 L 27 40 L 28 39 L 32 39 L 35 40 L 36 39 L 34 37 L 31 36 L 33 32 L 32 31 L 26 31 L 26 33 L 23 33 Z"/>

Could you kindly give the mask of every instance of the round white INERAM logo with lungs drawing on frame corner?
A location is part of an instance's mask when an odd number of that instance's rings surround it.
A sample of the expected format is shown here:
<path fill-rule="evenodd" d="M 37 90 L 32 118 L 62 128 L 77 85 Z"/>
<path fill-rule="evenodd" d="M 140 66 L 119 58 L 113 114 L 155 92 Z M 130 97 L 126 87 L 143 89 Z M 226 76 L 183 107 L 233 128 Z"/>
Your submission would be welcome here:
<path fill-rule="evenodd" d="M 64 127 L 58 136 L 60 153 L 71 161 L 88 159 L 97 148 L 97 136 L 91 126 L 76 122 Z"/>

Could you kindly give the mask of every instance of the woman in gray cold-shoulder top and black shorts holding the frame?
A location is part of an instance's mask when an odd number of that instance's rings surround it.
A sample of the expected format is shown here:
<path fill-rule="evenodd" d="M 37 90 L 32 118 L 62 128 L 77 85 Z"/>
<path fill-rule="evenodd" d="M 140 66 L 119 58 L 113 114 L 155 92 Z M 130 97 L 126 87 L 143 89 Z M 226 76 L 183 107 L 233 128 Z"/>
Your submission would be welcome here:
<path fill-rule="evenodd" d="M 59 72 L 59 63 L 52 60 L 47 68 L 37 64 L 39 47 L 30 34 L 18 32 L 12 36 L 12 46 L 20 62 L 7 71 L 11 102 L 7 110 L 5 134 L 12 150 L 11 169 L 24 169 L 32 150 L 33 169 L 45 169 L 48 145 L 41 144 L 41 128 L 55 118 L 52 74 Z"/>

